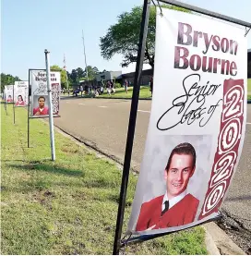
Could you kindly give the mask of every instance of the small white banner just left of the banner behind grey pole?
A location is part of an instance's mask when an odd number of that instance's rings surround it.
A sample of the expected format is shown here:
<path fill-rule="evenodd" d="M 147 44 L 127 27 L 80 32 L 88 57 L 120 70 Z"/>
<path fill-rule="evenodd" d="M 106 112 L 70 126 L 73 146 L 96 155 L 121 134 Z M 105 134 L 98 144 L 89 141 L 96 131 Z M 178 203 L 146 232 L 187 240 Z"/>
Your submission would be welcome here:
<path fill-rule="evenodd" d="M 16 106 L 26 106 L 29 104 L 29 82 L 15 81 L 14 84 L 14 104 Z"/>

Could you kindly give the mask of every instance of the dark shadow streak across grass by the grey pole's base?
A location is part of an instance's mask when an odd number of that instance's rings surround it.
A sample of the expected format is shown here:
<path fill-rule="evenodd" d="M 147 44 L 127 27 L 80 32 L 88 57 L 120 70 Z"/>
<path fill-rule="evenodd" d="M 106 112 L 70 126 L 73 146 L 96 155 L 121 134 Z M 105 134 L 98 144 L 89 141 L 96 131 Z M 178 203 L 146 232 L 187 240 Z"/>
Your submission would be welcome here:
<path fill-rule="evenodd" d="M 48 172 L 56 175 L 64 175 L 70 177 L 84 177 L 82 170 L 72 170 L 61 167 L 59 165 L 46 165 L 39 162 L 32 162 L 30 165 L 8 165 L 9 167 L 21 169 L 21 170 L 37 170 L 42 172 Z"/>

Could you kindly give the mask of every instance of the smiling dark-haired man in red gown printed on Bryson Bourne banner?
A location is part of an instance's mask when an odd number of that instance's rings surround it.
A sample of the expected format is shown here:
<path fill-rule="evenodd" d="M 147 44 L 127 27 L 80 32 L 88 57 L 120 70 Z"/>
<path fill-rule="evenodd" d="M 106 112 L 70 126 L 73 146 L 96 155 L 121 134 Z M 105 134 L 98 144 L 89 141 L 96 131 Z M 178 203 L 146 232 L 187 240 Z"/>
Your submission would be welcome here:
<path fill-rule="evenodd" d="M 199 201 L 186 191 L 195 169 L 194 147 L 190 143 L 177 145 L 164 170 L 166 192 L 141 205 L 136 231 L 182 226 L 195 220 Z"/>

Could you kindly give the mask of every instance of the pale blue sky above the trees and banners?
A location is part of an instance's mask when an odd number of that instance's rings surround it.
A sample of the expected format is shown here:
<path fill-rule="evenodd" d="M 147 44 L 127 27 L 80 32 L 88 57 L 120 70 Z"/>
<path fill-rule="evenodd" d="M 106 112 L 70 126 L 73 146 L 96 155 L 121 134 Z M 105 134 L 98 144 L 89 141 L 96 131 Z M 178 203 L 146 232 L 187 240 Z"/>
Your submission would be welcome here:
<path fill-rule="evenodd" d="M 183 2 L 251 22 L 250 0 Z M 102 58 L 100 37 L 119 14 L 142 3 L 143 0 L 2 0 L 1 72 L 28 79 L 29 68 L 45 67 L 44 49 L 51 52 L 51 65 L 63 67 L 66 54 L 68 71 L 84 68 L 82 30 L 88 65 L 100 70 L 122 70 L 121 55 L 114 55 L 110 61 Z M 247 40 L 251 48 L 251 31 Z M 123 68 L 123 72 L 134 68 Z"/>

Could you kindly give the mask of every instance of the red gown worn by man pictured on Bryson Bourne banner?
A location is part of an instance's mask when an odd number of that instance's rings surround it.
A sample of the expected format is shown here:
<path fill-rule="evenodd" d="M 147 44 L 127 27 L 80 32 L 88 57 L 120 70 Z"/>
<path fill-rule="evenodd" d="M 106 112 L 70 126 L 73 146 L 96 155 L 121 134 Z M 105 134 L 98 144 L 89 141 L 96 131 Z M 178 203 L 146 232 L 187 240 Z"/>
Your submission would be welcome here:
<path fill-rule="evenodd" d="M 151 226 L 152 229 L 182 226 L 192 223 L 197 213 L 199 201 L 191 194 L 173 205 L 161 216 L 161 204 L 164 195 L 142 203 L 137 219 L 136 231 L 144 231 Z"/>

